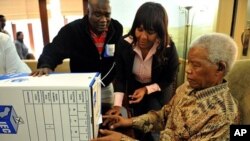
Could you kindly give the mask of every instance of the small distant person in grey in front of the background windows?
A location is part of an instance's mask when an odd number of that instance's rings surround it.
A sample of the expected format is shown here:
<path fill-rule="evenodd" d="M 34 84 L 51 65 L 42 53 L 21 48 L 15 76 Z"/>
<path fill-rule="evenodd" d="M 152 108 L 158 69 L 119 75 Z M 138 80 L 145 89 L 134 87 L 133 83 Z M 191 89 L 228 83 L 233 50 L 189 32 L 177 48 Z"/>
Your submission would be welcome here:
<path fill-rule="evenodd" d="M 16 50 L 21 59 L 26 59 L 29 49 L 23 42 L 23 32 L 18 31 L 16 33 L 16 40 L 15 40 Z"/>

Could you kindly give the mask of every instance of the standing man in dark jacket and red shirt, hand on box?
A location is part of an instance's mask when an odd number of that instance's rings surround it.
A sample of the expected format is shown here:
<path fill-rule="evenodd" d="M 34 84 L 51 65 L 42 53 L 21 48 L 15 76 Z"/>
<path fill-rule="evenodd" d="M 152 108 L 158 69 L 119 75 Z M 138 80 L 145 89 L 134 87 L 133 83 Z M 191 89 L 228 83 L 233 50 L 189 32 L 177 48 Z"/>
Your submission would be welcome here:
<path fill-rule="evenodd" d="M 122 25 L 110 16 L 109 0 L 89 0 L 87 15 L 60 29 L 44 47 L 38 69 L 31 75 L 48 75 L 66 58 L 70 59 L 71 72 L 100 72 L 105 112 L 113 104 L 114 51 L 123 33 Z"/>

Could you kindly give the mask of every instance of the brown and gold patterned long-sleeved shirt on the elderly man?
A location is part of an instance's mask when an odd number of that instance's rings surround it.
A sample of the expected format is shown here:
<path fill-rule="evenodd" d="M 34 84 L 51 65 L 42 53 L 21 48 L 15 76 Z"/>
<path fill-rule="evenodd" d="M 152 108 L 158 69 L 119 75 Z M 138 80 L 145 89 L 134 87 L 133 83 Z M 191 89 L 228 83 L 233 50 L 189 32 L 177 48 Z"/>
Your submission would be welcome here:
<path fill-rule="evenodd" d="M 169 104 L 134 117 L 132 126 L 144 132 L 161 131 L 161 141 L 224 141 L 229 140 L 230 125 L 237 123 L 238 105 L 227 82 L 203 90 L 194 90 L 186 82 Z"/>

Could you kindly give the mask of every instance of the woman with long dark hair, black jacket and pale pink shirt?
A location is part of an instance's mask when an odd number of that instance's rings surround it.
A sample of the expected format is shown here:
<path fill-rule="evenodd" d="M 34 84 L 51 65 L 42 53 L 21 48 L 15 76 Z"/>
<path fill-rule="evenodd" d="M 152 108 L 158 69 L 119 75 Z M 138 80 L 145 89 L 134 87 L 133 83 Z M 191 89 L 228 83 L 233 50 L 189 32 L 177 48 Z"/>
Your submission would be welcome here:
<path fill-rule="evenodd" d="M 107 114 L 120 114 L 124 96 L 129 99 L 133 116 L 159 110 L 171 99 L 179 61 L 168 34 L 167 13 L 161 4 L 147 2 L 139 7 L 131 30 L 116 48 L 115 57 L 115 101 Z M 139 132 L 136 135 L 140 140 L 150 140 Z"/>

